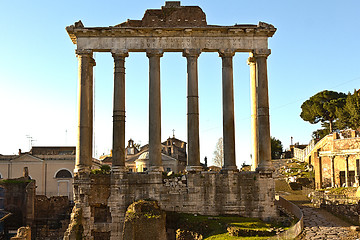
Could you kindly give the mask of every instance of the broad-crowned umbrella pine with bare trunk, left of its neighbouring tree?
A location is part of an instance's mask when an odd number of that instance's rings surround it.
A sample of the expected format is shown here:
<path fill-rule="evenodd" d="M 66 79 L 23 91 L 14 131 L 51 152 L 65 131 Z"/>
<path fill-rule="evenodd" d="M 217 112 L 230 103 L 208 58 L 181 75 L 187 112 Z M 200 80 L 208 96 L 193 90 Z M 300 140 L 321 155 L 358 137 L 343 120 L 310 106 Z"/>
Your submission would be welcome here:
<path fill-rule="evenodd" d="M 311 124 L 328 123 L 329 131 L 332 132 L 337 120 L 336 109 L 345 105 L 345 98 L 346 94 L 342 92 L 321 91 L 301 105 L 300 117 Z"/>

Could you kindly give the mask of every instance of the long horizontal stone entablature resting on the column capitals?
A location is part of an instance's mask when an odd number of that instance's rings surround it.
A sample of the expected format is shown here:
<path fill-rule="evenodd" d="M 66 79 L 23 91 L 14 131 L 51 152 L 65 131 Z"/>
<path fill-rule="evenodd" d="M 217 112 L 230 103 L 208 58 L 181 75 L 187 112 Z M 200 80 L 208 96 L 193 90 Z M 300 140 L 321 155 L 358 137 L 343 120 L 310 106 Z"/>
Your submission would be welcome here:
<path fill-rule="evenodd" d="M 127 49 L 146 51 L 163 49 L 164 51 L 183 51 L 183 49 L 201 49 L 201 51 L 251 51 L 267 49 L 268 37 L 272 37 L 276 28 L 259 22 L 258 25 L 234 25 L 206 27 L 92 27 L 85 28 L 81 21 L 66 27 L 77 49 L 93 51 L 111 51 Z"/>

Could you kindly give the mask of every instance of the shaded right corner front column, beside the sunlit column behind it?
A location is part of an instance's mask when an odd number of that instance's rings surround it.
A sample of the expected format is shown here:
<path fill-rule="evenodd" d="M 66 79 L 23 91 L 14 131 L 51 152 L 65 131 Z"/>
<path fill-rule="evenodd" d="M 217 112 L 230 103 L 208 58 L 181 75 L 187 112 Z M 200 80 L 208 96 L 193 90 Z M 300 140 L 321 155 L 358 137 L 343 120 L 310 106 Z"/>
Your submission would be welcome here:
<path fill-rule="evenodd" d="M 259 143 L 258 172 L 272 172 L 274 169 L 271 162 L 271 140 L 269 119 L 269 96 L 266 59 L 270 55 L 270 49 L 258 49 L 254 51 L 256 61 L 257 88 L 257 129 Z"/>

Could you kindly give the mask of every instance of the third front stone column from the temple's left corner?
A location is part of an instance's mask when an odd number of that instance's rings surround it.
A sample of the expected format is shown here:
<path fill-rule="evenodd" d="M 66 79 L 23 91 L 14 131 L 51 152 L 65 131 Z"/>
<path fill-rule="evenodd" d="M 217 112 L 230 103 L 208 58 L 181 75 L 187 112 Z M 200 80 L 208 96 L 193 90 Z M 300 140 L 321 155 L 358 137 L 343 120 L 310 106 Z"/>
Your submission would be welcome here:
<path fill-rule="evenodd" d="M 149 58 L 149 161 L 150 171 L 163 171 L 161 160 L 160 57 L 163 51 L 146 51 Z"/>

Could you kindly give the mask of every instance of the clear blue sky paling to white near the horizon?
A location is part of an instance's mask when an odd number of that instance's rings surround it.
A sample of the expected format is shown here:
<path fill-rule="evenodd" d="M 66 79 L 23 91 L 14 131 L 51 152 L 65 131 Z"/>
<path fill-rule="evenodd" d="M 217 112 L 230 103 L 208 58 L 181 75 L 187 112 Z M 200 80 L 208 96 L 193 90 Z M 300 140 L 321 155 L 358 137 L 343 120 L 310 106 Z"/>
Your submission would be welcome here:
<path fill-rule="evenodd" d="M 348 92 L 360 82 L 360 1 L 181 1 L 198 5 L 208 24 L 257 24 L 278 30 L 269 39 L 271 135 L 285 148 L 308 143 L 319 128 L 299 114 L 303 101 L 321 90 Z M 141 19 L 164 1 L 4 1 L 0 0 L 0 154 L 35 146 L 75 145 L 77 59 L 65 27 L 112 26 Z M 250 163 L 248 54 L 234 58 L 237 163 Z M 113 60 L 95 59 L 95 155 L 108 153 L 112 139 Z M 161 59 L 162 140 L 186 141 L 186 59 L 165 53 Z M 131 53 L 126 61 L 126 139 L 148 142 L 148 59 Z M 199 57 L 201 158 L 212 159 L 222 136 L 221 59 Z"/>

